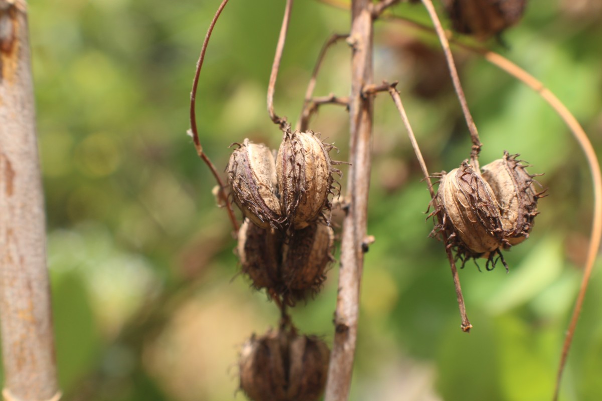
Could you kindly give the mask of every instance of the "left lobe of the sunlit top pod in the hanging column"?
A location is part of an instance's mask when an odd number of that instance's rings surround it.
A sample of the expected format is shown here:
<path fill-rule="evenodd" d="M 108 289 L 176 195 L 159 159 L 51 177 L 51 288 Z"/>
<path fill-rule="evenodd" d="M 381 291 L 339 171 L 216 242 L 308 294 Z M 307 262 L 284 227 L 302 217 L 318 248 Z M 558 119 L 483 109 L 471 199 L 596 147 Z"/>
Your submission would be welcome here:
<path fill-rule="evenodd" d="M 259 227 L 279 227 L 282 218 L 270 149 L 244 139 L 232 152 L 226 171 L 232 198 L 243 214 Z"/>

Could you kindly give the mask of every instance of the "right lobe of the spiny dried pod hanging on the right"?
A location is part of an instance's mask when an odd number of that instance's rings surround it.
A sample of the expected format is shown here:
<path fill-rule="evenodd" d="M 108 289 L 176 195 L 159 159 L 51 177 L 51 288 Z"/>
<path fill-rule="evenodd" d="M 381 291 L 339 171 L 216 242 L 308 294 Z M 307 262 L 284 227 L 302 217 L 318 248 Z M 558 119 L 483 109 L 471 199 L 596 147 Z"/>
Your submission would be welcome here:
<path fill-rule="evenodd" d="M 504 237 L 517 245 L 529 237 L 541 193 L 535 190 L 533 177 L 525 170 L 518 155 L 508 155 L 482 167 L 483 179 L 489 183 L 501 209 Z"/>

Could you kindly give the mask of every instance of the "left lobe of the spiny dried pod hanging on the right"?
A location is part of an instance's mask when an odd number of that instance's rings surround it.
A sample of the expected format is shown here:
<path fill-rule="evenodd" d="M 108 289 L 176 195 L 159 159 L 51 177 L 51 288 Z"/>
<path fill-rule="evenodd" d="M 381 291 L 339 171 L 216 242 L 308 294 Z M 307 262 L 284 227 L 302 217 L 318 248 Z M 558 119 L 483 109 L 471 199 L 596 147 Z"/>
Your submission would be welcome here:
<path fill-rule="evenodd" d="M 441 177 L 436 200 L 444 212 L 441 229 L 459 253 L 489 257 L 505 245 L 495 195 L 467 161 Z"/>

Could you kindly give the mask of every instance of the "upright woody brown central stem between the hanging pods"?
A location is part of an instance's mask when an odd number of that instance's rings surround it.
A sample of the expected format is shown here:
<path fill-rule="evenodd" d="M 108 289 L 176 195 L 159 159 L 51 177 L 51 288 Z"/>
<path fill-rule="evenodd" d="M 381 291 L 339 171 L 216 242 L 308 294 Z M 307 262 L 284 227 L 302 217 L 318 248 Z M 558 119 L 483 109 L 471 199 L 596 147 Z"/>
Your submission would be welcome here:
<path fill-rule="evenodd" d="M 326 401 L 347 400 L 358 334 L 359 290 L 367 242 L 368 188 L 370 186 L 370 138 L 373 99 L 362 96 L 372 83 L 373 19 L 370 0 L 352 0 L 352 26 L 348 43 L 353 47 L 352 87 L 349 102 L 350 145 L 347 199 L 343 222 L 335 336 L 330 354 Z"/>

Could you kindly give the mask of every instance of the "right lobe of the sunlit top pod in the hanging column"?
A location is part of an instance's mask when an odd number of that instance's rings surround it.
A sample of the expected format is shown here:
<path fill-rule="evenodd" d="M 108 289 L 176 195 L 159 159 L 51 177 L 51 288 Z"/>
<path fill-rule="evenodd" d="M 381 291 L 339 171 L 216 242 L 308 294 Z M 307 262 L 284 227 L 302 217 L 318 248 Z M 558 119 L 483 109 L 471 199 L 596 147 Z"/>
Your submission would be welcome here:
<path fill-rule="evenodd" d="M 276 156 L 281 214 L 294 228 L 307 227 L 324 208 L 332 192 L 332 146 L 313 132 L 285 132 Z"/>

